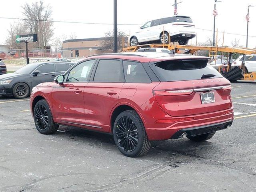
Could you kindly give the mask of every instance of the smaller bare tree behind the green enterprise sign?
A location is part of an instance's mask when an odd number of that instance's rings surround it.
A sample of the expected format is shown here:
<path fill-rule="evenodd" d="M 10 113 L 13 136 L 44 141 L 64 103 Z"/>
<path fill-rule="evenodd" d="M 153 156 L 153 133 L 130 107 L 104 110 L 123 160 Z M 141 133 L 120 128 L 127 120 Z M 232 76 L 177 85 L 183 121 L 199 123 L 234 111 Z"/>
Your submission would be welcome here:
<path fill-rule="evenodd" d="M 10 24 L 10 29 L 7 30 L 7 38 L 5 40 L 5 44 L 12 47 L 13 49 L 21 49 L 24 48 L 24 44 L 16 43 L 16 35 L 26 34 L 27 30 L 23 23 L 14 22 Z"/>

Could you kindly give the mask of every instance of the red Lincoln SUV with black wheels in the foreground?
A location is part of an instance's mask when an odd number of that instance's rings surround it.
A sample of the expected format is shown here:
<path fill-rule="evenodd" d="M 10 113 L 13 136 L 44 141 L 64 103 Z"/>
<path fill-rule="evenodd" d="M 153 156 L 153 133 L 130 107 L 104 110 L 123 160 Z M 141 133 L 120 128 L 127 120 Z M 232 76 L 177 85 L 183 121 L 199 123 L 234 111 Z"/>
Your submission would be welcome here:
<path fill-rule="evenodd" d="M 168 53 L 89 56 L 55 82 L 32 89 L 37 130 L 59 125 L 112 133 L 130 157 L 145 154 L 152 140 L 187 137 L 205 141 L 233 122 L 230 82 L 208 57 Z"/>

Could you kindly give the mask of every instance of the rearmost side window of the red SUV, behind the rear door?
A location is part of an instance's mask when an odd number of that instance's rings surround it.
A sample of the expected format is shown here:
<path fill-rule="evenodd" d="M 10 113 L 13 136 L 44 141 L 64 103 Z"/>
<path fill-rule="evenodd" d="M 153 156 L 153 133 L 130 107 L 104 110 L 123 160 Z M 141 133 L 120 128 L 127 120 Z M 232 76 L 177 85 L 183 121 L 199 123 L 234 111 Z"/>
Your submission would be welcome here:
<path fill-rule="evenodd" d="M 151 83 L 148 74 L 139 62 L 123 61 L 124 77 L 127 83 Z"/>

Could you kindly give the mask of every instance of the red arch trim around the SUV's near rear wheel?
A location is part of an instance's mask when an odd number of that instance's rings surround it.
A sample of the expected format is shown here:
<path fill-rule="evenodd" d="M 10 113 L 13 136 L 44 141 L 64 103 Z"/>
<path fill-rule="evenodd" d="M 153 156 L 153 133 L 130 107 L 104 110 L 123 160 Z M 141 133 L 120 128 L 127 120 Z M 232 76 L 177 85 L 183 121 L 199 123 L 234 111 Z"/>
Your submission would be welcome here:
<path fill-rule="evenodd" d="M 109 125 L 110 125 L 110 131 L 111 133 L 113 133 L 113 128 L 114 128 L 114 122 L 116 120 L 116 117 L 127 110 L 134 110 L 136 111 L 136 113 L 140 116 L 144 126 L 145 126 L 145 121 L 144 118 L 142 116 L 142 114 L 140 113 L 140 111 L 138 110 L 138 108 L 136 108 L 134 105 L 130 104 L 130 103 L 119 103 L 118 105 L 116 105 L 112 112 L 110 113 L 110 119 L 109 119 Z"/>

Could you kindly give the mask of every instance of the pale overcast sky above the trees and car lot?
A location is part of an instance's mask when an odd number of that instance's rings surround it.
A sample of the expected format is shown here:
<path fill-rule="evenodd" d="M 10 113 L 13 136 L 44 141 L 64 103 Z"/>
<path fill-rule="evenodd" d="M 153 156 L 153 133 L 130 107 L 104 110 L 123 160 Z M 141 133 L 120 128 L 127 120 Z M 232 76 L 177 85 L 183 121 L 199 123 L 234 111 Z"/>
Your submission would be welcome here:
<path fill-rule="evenodd" d="M 190 16 L 196 28 L 206 29 L 198 32 L 198 42 L 203 42 L 212 36 L 214 0 L 178 0 L 178 14 Z M 23 18 L 21 6 L 34 0 L 2 0 L 0 17 Z M 45 4 L 52 6 L 53 20 L 113 23 L 113 0 L 44 0 Z M 118 0 L 118 24 L 144 24 L 149 20 L 173 16 L 174 0 Z M 245 16 L 248 5 L 255 5 L 256 0 L 222 0 L 217 2 L 216 28 L 219 32 L 235 33 L 241 35 L 225 34 L 224 45 L 231 46 L 231 41 L 239 40 L 240 45 L 246 45 L 246 25 Z M 0 44 L 4 44 L 7 29 L 10 23 L 15 20 L 0 18 Z M 256 7 L 250 8 L 249 40 L 248 47 L 256 46 Z M 21 21 L 20 21 L 21 22 Z M 62 34 L 70 35 L 76 33 L 77 38 L 96 38 L 104 36 L 108 30 L 112 30 L 112 25 L 95 24 L 70 24 L 54 23 L 54 37 Z M 130 30 L 138 30 L 139 26 L 119 25 L 120 30 L 127 34 Z M 218 33 L 219 45 L 222 44 L 222 33 Z M 244 35 L 244 36 L 242 36 Z M 255 36 L 255 37 L 250 37 Z M 189 42 L 190 43 L 190 42 Z M 196 38 L 192 39 L 192 44 L 196 43 Z"/>

